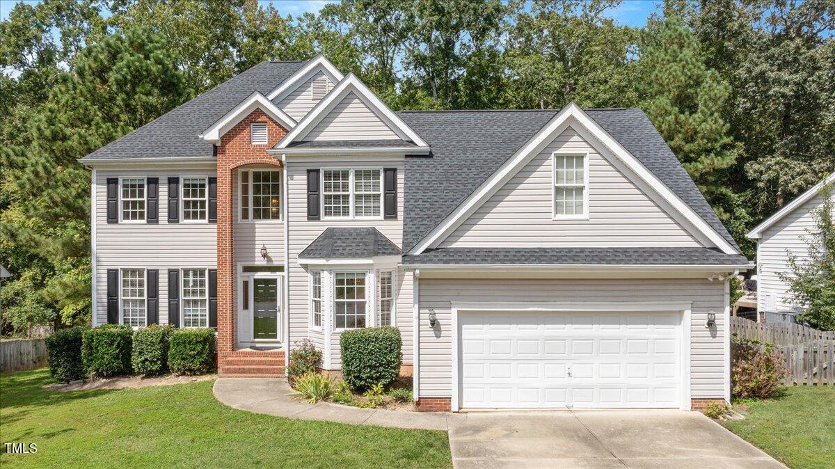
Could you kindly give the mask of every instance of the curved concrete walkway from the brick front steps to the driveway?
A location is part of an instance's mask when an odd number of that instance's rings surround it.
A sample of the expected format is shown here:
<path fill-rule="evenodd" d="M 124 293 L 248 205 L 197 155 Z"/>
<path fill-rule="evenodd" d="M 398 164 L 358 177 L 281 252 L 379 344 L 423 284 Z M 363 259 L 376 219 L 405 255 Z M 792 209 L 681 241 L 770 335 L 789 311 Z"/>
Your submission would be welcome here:
<path fill-rule="evenodd" d="M 218 401 L 235 409 L 302 420 L 447 431 L 449 420 L 462 417 L 446 412 L 361 409 L 330 402 L 311 405 L 289 396 L 293 390 L 285 378 L 219 378 L 213 391 Z"/>

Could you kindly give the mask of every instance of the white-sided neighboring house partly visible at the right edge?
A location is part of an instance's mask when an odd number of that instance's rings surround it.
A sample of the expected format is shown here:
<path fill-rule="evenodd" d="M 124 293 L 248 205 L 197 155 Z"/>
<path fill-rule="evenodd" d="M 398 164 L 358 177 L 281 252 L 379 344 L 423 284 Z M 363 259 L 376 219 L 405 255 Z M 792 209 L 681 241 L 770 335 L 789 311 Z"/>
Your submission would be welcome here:
<path fill-rule="evenodd" d="M 792 302 L 791 285 L 781 275 L 792 273 L 789 256 L 797 256 L 800 262 L 808 259 L 803 238 L 816 228 L 813 211 L 823 204 L 821 189 L 832 182 L 835 173 L 748 233 L 748 238 L 757 240 L 757 316 L 761 322 L 795 322 L 794 316 L 802 310 Z"/>

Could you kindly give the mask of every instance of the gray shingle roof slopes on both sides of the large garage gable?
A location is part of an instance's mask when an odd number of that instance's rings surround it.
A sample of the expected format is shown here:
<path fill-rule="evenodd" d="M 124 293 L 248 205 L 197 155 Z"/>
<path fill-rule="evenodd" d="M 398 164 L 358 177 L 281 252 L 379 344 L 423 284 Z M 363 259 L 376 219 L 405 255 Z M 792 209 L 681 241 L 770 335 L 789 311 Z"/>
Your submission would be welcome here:
<path fill-rule="evenodd" d="M 407 156 L 403 250 L 408 251 L 534 136 L 557 110 L 403 111 L 399 115 L 432 147 Z M 640 109 L 586 113 L 658 176 L 713 229 L 736 246 L 696 184 Z"/>

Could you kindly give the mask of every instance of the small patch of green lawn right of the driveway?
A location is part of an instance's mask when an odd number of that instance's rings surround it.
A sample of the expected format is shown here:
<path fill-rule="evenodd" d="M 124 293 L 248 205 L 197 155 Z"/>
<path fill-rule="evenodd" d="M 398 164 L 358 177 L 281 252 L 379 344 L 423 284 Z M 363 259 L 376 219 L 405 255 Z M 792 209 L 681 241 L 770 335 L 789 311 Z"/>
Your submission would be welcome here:
<path fill-rule="evenodd" d="M 789 467 L 835 464 L 835 386 L 794 386 L 782 396 L 744 401 L 746 419 L 725 426 Z"/>

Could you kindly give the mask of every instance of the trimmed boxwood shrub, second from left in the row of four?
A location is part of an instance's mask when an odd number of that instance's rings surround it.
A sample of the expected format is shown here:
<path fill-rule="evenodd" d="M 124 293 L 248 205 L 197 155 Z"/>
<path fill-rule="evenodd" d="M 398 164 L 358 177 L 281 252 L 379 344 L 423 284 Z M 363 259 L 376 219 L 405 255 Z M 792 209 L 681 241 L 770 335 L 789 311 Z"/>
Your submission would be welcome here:
<path fill-rule="evenodd" d="M 131 371 L 130 349 L 134 330 L 129 325 L 105 324 L 85 330 L 81 359 L 90 376 L 126 375 Z"/>

